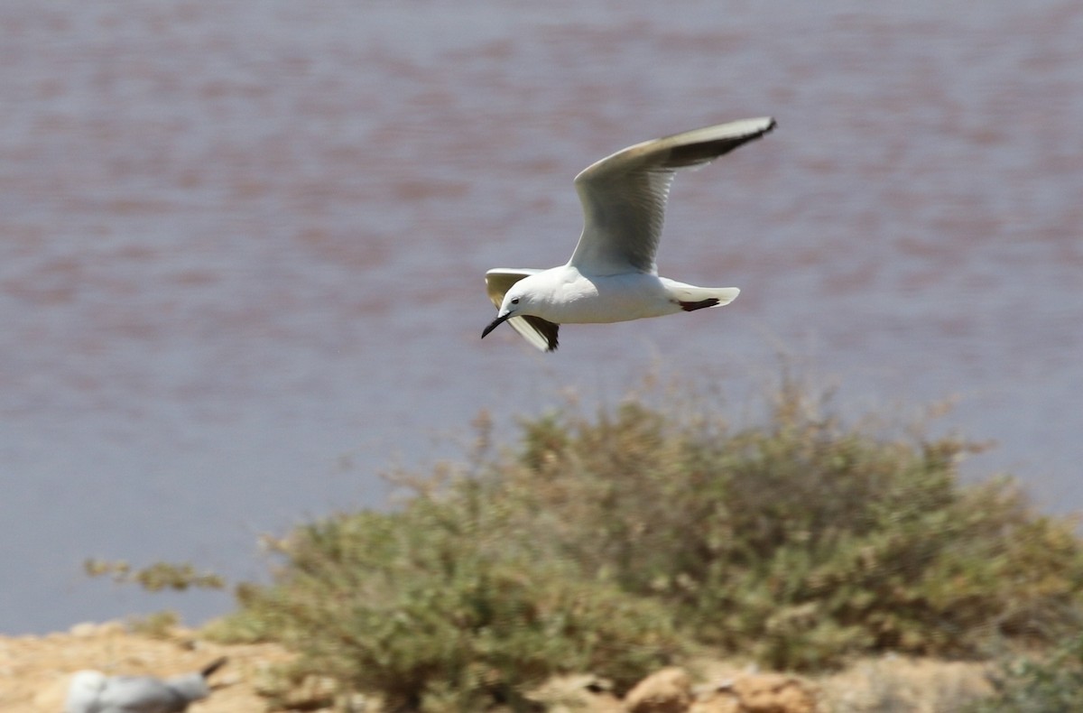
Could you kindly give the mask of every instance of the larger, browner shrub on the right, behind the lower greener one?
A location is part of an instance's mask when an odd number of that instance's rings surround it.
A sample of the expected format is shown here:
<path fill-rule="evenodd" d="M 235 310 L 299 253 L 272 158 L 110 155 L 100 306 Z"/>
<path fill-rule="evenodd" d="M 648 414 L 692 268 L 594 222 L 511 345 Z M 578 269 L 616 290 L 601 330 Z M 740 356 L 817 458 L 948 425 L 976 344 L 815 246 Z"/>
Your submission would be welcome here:
<path fill-rule="evenodd" d="M 524 528 L 544 513 L 566 557 L 770 666 L 1041 644 L 1080 604 L 1071 523 L 1034 515 L 1008 480 L 961 487 L 974 446 L 844 428 L 793 385 L 756 428 L 631 402 L 524 431 L 493 476 Z"/>

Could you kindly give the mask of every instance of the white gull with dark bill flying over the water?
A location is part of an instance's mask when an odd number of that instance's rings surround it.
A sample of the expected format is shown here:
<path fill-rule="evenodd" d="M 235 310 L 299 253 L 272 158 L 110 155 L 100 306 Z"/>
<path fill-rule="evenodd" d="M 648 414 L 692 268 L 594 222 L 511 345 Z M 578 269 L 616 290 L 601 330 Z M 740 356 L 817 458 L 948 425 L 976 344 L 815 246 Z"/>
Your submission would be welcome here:
<path fill-rule="evenodd" d="M 696 287 L 658 276 L 655 257 L 666 198 L 677 170 L 708 164 L 774 128 L 761 117 L 644 141 L 575 177 L 583 234 L 567 264 L 548 270 L 495 268 L 485 273 L 496 319 L 543 351 L 557 349 L 561 324 L 640 320 L 732 302 L 736 287 Z"/>

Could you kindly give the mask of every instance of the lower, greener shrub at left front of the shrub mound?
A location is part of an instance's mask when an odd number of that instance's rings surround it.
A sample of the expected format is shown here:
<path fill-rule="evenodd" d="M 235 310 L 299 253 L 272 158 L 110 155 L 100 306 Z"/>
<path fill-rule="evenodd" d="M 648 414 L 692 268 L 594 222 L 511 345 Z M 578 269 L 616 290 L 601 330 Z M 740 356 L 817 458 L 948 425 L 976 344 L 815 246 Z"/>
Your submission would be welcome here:
<path fill-rule="evenodd" d="M 247 588 L 238 625 L 260 621 L 304 672 L 410 710 L 523 708 L 526 687 L 571 671 L 628 687 L 680 650 L 658 602 L 507 536 L 497 505 L 460 482 L 400 513 L 303 527 L 276 584 Z"/>

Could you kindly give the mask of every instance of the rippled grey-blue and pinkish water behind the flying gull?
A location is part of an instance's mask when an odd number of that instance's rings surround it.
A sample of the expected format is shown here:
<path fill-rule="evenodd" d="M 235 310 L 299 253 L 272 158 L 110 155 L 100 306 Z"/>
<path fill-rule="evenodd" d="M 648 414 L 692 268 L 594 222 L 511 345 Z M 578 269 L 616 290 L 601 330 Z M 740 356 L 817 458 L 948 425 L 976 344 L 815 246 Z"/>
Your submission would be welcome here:
<path fill-rule="evenodd" d="M 382 503 L 482 407 L 780 349 L 857 410 L 957 394 L 976 474 L 1083 506 L 1083 5 L 0 5 L 0 631 L 197 622 L 229 597 L 81 561 L 259 576 L 259 533 Z M 479 340 L 485 269 L 571 254 L 578 170 L 762 114 L 662 247 L 733 306 Z"/>

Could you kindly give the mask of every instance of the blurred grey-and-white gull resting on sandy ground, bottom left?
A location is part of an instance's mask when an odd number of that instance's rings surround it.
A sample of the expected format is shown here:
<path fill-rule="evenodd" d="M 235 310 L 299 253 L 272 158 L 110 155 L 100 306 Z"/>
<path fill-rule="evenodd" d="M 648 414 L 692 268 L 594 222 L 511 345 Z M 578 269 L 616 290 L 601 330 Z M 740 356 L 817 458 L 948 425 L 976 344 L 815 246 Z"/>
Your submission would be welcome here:
<path fill-rule="evenodd" d="M 195 673 L 166 679 L 79 671 L 71 676 L 64 713 L 182 713 L 188 703 L 210 696 L 207 678 L 224 664 L 221 658 Z"/>

